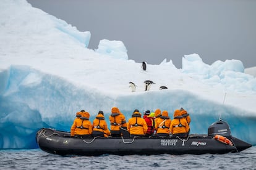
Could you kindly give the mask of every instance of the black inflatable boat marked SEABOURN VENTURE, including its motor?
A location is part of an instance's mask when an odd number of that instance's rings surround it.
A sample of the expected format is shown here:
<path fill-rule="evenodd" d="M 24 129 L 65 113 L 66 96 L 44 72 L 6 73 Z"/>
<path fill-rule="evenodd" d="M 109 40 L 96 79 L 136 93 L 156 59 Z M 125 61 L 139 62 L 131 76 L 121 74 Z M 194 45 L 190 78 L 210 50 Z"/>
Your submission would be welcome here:
<path fill-rule="evenodd" d="M 231 136 L 226 121 L 216 121 L 208 134 L 181 137 L 70 137 L 69 132 L 42 128 L 36 132 L 41 150 L 58 155 L 159 155 L 241 152 L 252 145 Z"/>

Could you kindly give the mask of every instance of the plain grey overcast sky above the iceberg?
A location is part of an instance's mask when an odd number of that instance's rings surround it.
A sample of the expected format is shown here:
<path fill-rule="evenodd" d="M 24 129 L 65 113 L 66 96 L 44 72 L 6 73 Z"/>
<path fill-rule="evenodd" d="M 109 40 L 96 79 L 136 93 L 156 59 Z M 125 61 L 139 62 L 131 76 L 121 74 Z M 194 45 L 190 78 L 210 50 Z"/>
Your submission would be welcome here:
<path fill-rule="evenodd" d="M 159 64 L 198 54 L 203 62 L 239 59 L 256 66 L 254 0 L 27 0 L 48 14 L 101 39 L 124 42 L 129 59 Z"/>

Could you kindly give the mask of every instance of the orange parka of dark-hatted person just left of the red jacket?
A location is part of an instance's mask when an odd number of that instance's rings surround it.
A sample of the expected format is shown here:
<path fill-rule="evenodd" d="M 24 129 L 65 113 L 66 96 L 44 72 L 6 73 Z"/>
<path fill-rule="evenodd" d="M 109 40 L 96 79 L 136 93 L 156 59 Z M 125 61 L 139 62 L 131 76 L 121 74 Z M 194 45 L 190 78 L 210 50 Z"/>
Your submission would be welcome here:
<path fill-rule="evenodd" d="M 132 135 L 145 135 L 148 130 L 146 121 L 141 118 L 142 114 L 135 111 L 127 123 L 127 131 Z"/>

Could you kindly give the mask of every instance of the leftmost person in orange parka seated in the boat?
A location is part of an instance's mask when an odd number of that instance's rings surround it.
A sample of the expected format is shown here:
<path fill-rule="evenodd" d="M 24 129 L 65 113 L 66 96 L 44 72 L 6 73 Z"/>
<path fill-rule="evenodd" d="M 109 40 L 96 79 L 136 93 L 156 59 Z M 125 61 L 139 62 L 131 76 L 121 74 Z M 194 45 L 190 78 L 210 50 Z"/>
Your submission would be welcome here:
<path fill-rule="evenodd" d="M 77 112 L 77 118 L 70 128 L 70 136 L 90 137 L 92 134 L 92 123 L 90 122 L 90 114 L 87 111 Z"/>

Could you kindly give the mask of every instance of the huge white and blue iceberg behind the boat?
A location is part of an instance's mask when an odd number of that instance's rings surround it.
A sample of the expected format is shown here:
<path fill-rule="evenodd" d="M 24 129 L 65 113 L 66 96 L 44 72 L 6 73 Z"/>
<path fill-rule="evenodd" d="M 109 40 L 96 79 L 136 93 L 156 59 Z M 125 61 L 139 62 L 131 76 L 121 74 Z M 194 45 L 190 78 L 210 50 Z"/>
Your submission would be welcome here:
<path fill-rule="evenodd" d="M 40 127 L 69 131 L 77 111 L 89 111 L 92 121 L 98 110 L 107 119 L 112 107 L 126 119 L 135 108 L 168 110 L 173 118 L 184 107 L 192 133 L 207 133 L 221 115 L 234 136 L 256 144 L 256 80 L 243 73 L 239 60 L 207 65 L 191 54 L 182 69 L 164 60 L 143 71 L 121 41 L 88 49 L 89 31 L 81 33 L 24 0 L 2 1 L 0 18 L 0 148 L 35 148 Z M 155 83 L 150 91 L 147 79 Z"/>

